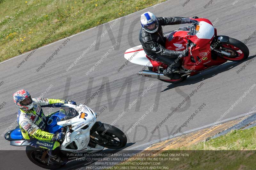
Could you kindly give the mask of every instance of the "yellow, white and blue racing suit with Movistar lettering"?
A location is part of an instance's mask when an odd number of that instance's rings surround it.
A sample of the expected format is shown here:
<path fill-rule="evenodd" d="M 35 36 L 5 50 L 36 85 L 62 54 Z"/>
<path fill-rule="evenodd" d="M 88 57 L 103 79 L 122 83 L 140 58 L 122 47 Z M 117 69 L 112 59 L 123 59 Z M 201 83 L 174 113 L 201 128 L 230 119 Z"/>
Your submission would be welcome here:
<path fill-rule="evenodd" d="M 44 131 L 46 122 L 52 114 L 44 115 L 42 107 L 61 107 L 68 103 L 62 99 L 33 98 L 34 107 L 30 111 L 19 109 L 17 121 L 21 134 L 33 147 L 54 150 L 60 146 L 58 141 L 51 141 L 54 134 Z"/>

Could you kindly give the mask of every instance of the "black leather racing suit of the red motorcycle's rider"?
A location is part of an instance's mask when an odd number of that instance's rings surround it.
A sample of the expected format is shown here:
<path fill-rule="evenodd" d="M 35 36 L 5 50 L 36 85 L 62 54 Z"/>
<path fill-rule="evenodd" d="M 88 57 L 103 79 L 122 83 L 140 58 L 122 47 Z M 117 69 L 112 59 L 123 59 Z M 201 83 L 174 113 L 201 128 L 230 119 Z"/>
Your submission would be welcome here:
<path fill-rule="evenodd" d="M 155 33 L 148 33 L 141 27 L 139 40 L 148 57 L 170 66 L 182 51 L 173 51 L 165 48 L 165 41 L 169 34 L 163 33 L 162 26 L 185 23 L 181 22 L 182 17 L 156 18 L 158 20 L 158 30 Z M 173 63 L 172 67 L 167 67 L 166 72 L 171 74 L 172 68 L 175 67 L 180 67 L 180 61 Z"/>

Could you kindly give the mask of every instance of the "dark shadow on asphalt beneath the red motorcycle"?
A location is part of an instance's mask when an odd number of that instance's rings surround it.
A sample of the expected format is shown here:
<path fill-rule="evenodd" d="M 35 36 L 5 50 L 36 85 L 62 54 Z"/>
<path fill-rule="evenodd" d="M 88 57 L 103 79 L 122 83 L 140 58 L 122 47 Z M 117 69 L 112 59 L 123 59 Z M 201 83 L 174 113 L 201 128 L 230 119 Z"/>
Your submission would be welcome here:
<path fill-rule="evenodd" d="M 201 82 L 203 80 L 206 80 L 208 78 L 212 78 L 213 76 L 216 76 L 217 74 L 219 73 L 222 73 L 224 71 L 227 71 L 227 70 L 230 70 L 232 68 L 235 68 L 236 66 L 240 65 L 241 63 L 244 63 L 250 59 L 252 59 L 253 57 L 255 57 L 256 55 L 252 55 L 252 56 L 249 56 L 246 60 L 244 61 L 241 61 L 241 62 L 228 62 L 228 63 L 224 63 L 220 66 L 216 66 L 216 67 L 213 67 L 209 70 L 205 70 L 195 76 L 191 76 L 191 77 L 188 77 L 185 81 L 183 82 L 180 82 L 180 83 L 177 83 L 177 84 L 170 84 L 167 86 L 166 89 L 164 89 L 162 92 L 164 91 L 167 91 L 167 90 L 170 90 L 172 88 L 175 88 L 175 87 L 180 87 L 180 86 L 184 86 L 184 85 L 193 85 L 193 84 L 196 84 L 198 82 Z"/>

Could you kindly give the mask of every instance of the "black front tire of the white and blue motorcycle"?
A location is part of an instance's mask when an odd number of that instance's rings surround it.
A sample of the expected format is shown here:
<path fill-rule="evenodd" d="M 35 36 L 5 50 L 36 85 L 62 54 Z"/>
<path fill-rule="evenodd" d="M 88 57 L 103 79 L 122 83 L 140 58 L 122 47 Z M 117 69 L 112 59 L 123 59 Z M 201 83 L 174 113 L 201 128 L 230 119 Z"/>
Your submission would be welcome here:
<path fill-rule="evenodd" d="M 124 132 L 115 126 L 111 126 L 106 123 L 102 123 L 100 128 L 98 128 L 96 131 L 92 132 L 92 136 L 94 133 L 97 133 L 104 139 L 109 139 L 109 142 L 104 144 L 101 143 L 98 140 L 94 140 L 97 144 L 100 146 L 103 146 L 105 148 L 109 149 L 120 149 L 123 148 L 127 143 L 127 137 L 125 136 Z M 116 138 L 119 140 L 117 141 Z M 112 141 L 112 139 L 114 139 Z"/>

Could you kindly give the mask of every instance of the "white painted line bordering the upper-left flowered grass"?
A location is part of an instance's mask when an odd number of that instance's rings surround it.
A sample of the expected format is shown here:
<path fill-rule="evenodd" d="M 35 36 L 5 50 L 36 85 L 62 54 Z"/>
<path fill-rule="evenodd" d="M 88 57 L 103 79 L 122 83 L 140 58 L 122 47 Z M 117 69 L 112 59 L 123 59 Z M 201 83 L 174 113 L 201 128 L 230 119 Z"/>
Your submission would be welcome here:
<path fill-rule="evenodd" d="M 167 0 L 167 1 L 168 1 L 168 0 Z M 161 3 L 159 3 L 159 4 L 165 3 L 165 2 L 167 2 L 167 1 L 161 2 Z M 158 5 L 159 5 L 159 4 L 158 4 Z M 148 7 L 148 8 L 152 8 L 153 6 L 154 6 L 154 5 L 152 5 L 152 6 Z M 106 23 L 101 24 L 101 25 L 108 24 L 108 23 L 110 23 L 110 22 L 113 22 L 113 21 L 115 21 L 115 20 L 118 20 L 118 19 L 127 17 L 127 16 L 129 16 L 129 15 L 132 15 L 132 14 L 135 14 L 135 13 L 138 13 L 138 12 L 141 12 L 141 11 L 146 10 L 146 9 L 148 9 L 148 8 L 144 8 L 144 9 L 142 9 L 142 10 L 140 10 L 140 11 L 133 12 L 133 13 L 131 13 L 131 14 L 125 15 L 125 16 L 120 17 L 120 18 L 117 18 L 117 19 L 114 19 L 114 20 L 112 20 L 112 21 L 106 22 Z M 40 47 L 40 48 L 47 47 L 47 46 L 49 46 L 49 45 L 52 45 L 52 44 L 54 44 L 54 43 L 63 41 L 64 39 L 67 39 L 67 38 L 70 38 L 70 37 L 74 37 L 74 36 L 79 35 L 79 34 L 81 34 L 81 33 L 85 33 L 86 31 L 92 30 L 92 29 L 94 29 L 94 28 L 96 28 L 96 27 L 99 27 L 99 26 L 101 26 L 101 25 L 94 26 L 94 27 L 92 27 L 92 28 L 89 28 L 88 30 L 85 30 L 85 31 L 83 31 L 83 32 L 80 32 L 80 33 L 71 35 L 71 36 L 69 36 L 69 37 L 65 37 L 65 38 L 63 38 L 63 39 L 61 39 L 61 40 L 58 40 L 58 41 L 52 42 L 52 43 L 50 43 L 50 44 L 44 45 L 44 46 L 42 46 L 42 47 Z M 40 48 L 38 48 L 37 50 L 39 50 Z M 33 51 L 33 49 L 32 49 L 31 51 Z M 8 60 L 2 61 L 0 64 L 5 63 L 5 62 L 7 62 L 7 61 L 10 61 L 10 60 L 12 60 L 12 59 L 14 59 L 14 58 L 20 57 L 20 56 L 22 56 L 22 55 L 26 55 L 26 54 L 30 53 L 31 51 L 28 51 L 28 52 L 26 52 L 26 53 L 24 53 L 24 54 L 17 55 L 17 56 L 15 56 L 15 57 L 9 58 Z"/>

